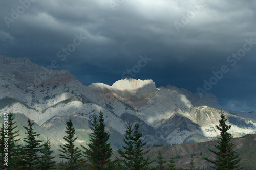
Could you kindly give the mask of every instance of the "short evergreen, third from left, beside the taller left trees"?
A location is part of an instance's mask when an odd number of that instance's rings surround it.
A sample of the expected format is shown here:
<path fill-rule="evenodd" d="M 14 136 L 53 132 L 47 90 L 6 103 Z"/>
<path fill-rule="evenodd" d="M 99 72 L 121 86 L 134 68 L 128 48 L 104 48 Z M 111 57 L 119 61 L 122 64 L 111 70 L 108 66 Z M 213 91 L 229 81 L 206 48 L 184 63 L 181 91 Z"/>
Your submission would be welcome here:
<path fill-rule="evenodd" d="M 47 140 L 42 144 L 42 149 L 40 150 L 42 154 L 40 156 L 39 167 L 41 170 L 54 169 L 56 161 L 53 161 L 55 156 L 51 156 L 53 151 L 51 150 L 50 140 Z"/>

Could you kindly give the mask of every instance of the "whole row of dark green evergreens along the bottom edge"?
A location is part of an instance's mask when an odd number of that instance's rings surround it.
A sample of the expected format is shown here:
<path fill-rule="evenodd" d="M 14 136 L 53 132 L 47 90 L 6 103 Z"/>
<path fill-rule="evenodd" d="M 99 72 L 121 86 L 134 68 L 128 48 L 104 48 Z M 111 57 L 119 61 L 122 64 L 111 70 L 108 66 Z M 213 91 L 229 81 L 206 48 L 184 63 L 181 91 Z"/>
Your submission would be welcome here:
<path fill-rule="evenodd" d="M 223 111 L 220 112 L 220 116 L 219 125 L 216 126 L 221 131 L 218 145 L 215 145 L 216 150 L 209 149 L 215 158 L 203 157 L 203 159 L 211 163 L 210 167 L 213 169 L 242 169 L 240 166 L 241 158 L 234 151 L 234 143 L 230 141 L 232 135 L 227 132 L 231 125 L 226 124 L 227 119 Z M 40 134 L 34 131 L 34 123 L 30 119 L 28 119 L 28 126 L 24 126 L 26 132 L 22 139 L 19 138 L 19 130 L 16 130 L 17 125 L 12 113 L 5 117 L 5 121 L 0 127 L 0 169 L 179 169 L 176 168 L 175 157 L 172 153 L 170 153 L 169 161 L 166 163 L 160 151 L 156 160 L 158 165 L 156 167 L 151 165 L 155 160 L 151 160 L 150 157 L 145 158 L 148 151 L 145 151 L 146 142 L 142 140 L 138 122 L 135 122 L 133 126 L 131 123 L 127 123 L 123 148 L 118 149 L 119 157 L 111 160 L 113 149 L 108 143 L 110 134 L 105 131 L 102 111 L 99 112 L 98 118 L 94 116 L 91 123 L 93 133 L 89 134 L 87 146 L 80 144 L 82 150 L 74 144 L 78 137 L 75 137 L 72 120 L 69 119 L 66 122 L 65 132 L 67 135 L 63 136 L 65 144 L 59 145 L 58 149 L 60 151 L 59 157 L 64 161 L 59 163 L 54 161 L 55 156 L 52 155 L 50 140 L 37 139 Z M 23 140 L 25 144 L 19 144 L 20 140 Z M 189 162 L 188 169 L 196 169 L 193 159 Z"/>

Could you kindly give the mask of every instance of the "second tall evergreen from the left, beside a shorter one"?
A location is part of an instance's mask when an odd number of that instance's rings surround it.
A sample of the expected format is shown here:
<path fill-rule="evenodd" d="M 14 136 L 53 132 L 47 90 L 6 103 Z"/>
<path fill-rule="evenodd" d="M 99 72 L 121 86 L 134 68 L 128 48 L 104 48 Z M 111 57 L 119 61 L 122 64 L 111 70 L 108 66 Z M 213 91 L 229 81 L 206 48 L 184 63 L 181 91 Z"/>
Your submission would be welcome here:
<path fill-rule="evenodd" d="M 28 127 L 24 126 L 24 128 L 27 130 L 25 132 L 26 137 L 23 139 L 25 142 L 25 145 L 22 147 L 22 169 L 26 170 L 34 170 L 38 168 L 39 163 L 39 155 L 38 152 L 41 149 L 40 143 L 41 140 L 37 140 L 36 137 L 38 137 L 40 134 L 37 134 L 37 132 L 34 132 L 34 129 L 32 126 L 34 123 L 31 123 L 30 119 L 28 119 Z"/>

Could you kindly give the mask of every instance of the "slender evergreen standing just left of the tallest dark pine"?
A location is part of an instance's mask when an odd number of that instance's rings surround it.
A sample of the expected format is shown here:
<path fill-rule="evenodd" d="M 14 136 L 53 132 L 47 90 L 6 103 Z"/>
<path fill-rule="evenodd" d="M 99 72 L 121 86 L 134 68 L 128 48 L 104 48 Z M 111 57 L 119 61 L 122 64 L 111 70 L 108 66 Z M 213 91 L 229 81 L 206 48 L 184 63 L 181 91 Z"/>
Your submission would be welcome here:
<path fill-rule="evenodd" d="M 66 164 L 61 164 L 65 166 L 67 170 L 76 170 L 84 166 L 85 161 L 82 158 L 81 150 L 75 147 L 74 141 L 77 139 L 75 136 L 75 128 L 73 127 L 72 120 L 69 119 L 67 122 L 66 133 L 63 139 L 67 142 L 66 144 L 60 145 L 59 151 L 63 154 L 59 154 L 60 158 L 66 159 Z"/>

